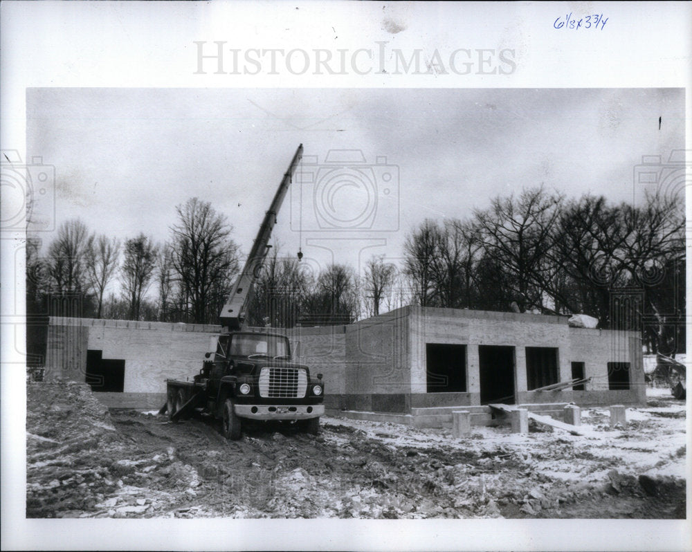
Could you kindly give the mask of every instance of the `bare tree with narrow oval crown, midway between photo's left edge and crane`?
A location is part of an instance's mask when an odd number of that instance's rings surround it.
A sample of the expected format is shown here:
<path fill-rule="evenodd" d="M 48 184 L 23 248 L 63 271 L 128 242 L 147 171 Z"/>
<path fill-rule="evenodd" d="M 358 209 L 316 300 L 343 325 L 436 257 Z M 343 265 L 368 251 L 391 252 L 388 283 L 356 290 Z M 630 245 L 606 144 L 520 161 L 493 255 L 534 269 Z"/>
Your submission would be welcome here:
<path fill-rule="evenodd" d="M 125 260 L 120 269 L 122 286 L 129 302 L 130 320 L 139 320 L 142 299 L 154 274 L 156 247 L 152 239 L 139 234 L 125 241 Z"/>

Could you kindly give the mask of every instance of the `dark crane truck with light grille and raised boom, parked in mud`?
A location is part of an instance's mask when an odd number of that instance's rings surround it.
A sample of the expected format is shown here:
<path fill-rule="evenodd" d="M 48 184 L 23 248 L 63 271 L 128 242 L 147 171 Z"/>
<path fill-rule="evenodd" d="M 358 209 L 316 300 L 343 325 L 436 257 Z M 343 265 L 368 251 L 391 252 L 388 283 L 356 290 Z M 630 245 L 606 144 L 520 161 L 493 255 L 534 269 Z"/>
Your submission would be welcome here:
<path fill-rule="evenodd" d="M 325 413 L 322 374 L 311 375 L 309 367 L 293 362 L 286 335 L 272 329 L 248 329 L 246 311 L 260 274 L 269 239 L 281 204 L 302 157 L 302 144 L 295 151 L 239 277 L 221 309 L 221 333 L 213 336 L 202 368 L 192 381 L 166 380 L 166 404 L 171 421 L 197 411 L 220 419 L 226 439 L 242 437 L 253 421 L 281 421 L 317 434 Z"/>

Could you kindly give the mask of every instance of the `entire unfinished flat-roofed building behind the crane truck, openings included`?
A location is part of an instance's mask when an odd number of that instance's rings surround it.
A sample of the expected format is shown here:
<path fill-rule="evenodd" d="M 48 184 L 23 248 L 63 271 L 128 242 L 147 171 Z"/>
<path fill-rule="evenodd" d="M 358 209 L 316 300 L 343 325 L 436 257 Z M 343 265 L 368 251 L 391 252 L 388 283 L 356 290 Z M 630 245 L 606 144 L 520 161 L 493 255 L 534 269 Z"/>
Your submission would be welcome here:
<path fill-rule="evenodd" d="M 46 379 L 86 381 L 111 407 L 158 407 L 165 380 L 201 367 L 219 329 L 51 318 Z M 324 374 L 331 414 L 442 427 L 458 407 L 489 423 L 491 403 L 646 403 L 639 333 L 576 328 L 566 316 L 406 306 L 285 332 L 295 360 Z"/>

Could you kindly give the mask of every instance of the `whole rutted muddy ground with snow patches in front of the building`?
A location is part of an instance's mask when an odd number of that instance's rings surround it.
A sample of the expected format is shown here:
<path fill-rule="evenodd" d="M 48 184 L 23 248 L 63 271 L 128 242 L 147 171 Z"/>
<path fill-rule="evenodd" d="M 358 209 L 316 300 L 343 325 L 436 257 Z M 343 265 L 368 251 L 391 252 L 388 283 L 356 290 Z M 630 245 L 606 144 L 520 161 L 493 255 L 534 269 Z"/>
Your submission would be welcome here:
<path fill-rule="evenodd" d="M 655 390 L 654 390 L 655 391 Z M 685 405 L 583 411 L 588 436 L 322 418 L 318 436 L 109 412 L 88 386 L 32 383 L 27 517 L 659 518 L 686 513 Z"/>

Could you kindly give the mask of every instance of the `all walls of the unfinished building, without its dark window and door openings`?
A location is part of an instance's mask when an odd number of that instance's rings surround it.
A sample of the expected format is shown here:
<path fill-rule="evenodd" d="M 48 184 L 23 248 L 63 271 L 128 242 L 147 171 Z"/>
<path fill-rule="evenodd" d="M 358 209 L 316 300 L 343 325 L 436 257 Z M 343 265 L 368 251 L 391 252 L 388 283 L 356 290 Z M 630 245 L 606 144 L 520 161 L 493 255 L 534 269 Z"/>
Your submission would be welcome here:
<path fill-rule="evenodd" d="M 197 373 L 219 331 L 201 324 L 51 318 L 46 378 L 84 381 L 86 351 L 98 349 L 103 358 L 125 360 L 125 394 L 163 394 L 167 378 Z M 277 331 L 291 340 L 296 362 L 324 374 L 330 408 L 410 412 L 480 405 L 478 346 L 484 344 L 514 347 L 520 403 L 646 401 L 639 335 L 570 328 L 566 317 L 410 306 L 348 326 Z M 427 393 L 426 343 L 466 345 L 466 393 Z M 572 361 L 585 362 L 592 382 L 584 392 L 527 392 L 525 347 L 558 348 L 561 381 L 572 377 Z M 630 391 L 608 390 L 608 362 L 630 362 Z"/>

